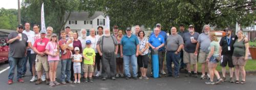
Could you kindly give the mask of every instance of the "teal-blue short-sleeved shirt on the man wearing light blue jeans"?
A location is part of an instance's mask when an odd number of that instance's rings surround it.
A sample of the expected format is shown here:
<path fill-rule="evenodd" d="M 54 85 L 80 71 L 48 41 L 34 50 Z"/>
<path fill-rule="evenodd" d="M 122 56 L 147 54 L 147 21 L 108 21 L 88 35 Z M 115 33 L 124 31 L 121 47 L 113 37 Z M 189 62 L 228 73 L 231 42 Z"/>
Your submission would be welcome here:
<path fill-rule="evenodd" d="M 124 35 L 121 40 L 121 45 L 123 45 L 124 55 L 134 55 L 136 54 L 136 46 L 139 44 L 137 36 L 132 35 L 130 38 Z"/>

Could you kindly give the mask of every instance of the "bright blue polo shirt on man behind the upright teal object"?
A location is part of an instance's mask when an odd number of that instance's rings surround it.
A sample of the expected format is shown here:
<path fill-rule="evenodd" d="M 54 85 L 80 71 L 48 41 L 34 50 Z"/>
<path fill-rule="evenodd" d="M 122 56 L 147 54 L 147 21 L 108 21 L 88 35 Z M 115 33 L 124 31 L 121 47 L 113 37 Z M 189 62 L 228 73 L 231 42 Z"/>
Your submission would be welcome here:
<path fill-rule="evenodd" d="M 148 40 L 148 43 L 150 43 L 154 47 L 158 47 L 161 44 L 164 44 L 165 41 L 164 41 L 163 36 L 159 34 L 158 37 L 156 37 L 156 35 L 152 35 L 150 37 L 150 40 Z M 161 50 L 164 50 L 164 49 L 163 48 L 159 48 L 158 50 L 161 51 Z"/>

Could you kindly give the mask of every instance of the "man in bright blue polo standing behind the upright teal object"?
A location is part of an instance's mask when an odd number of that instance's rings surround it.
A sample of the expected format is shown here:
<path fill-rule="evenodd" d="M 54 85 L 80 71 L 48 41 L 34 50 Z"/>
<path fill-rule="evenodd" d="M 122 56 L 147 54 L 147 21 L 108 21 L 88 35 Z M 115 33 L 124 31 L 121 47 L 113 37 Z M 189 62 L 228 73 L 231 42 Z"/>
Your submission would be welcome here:
<path fill-rule="evenodd" d="M 161 50 L 162 47 L 164 47 L 164 38 L 160 33 L 160 28 L 154 29 L 154 35 L 150 37 L 148 40 L 148 45 L 152 48 L 152 51 L 157 50 L 158 51 L 158 61 L 159 61 L 159 72 L 162 70 L 163 67 L 163 52 Z M 153 71 L 153 69 L 152 69 Z M 159 75 L 161 77 L 161 75 Z"/>

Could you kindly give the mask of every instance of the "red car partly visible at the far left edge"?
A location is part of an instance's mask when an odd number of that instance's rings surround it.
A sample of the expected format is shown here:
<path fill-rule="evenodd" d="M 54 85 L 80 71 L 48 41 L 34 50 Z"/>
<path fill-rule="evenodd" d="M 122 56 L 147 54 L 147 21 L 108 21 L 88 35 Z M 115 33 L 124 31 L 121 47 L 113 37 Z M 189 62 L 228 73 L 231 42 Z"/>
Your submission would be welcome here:
<path fill-rule="evenodd" d="M 7 37 L 0 37 L 0 63 L 8 63 L 8 51 Z"/>

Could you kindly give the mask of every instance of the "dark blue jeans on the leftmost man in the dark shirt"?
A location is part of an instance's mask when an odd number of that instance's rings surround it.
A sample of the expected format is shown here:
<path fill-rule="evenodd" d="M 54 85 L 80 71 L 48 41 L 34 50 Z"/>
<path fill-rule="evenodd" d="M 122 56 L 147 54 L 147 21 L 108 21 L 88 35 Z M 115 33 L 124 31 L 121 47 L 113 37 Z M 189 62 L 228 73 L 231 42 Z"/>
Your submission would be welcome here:
<path fill-rule="evenodd" d="M 14 77 L 14 70 L 15 67 L 17 66 L 17 79 L 22 78 L 22 67 L 23 67 L 23 62 L 26 57 L 8 57 L 9 61 L 9 74 L 8 74 L 8 79 L 12 79 Z"/>

